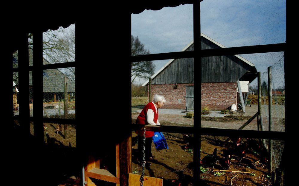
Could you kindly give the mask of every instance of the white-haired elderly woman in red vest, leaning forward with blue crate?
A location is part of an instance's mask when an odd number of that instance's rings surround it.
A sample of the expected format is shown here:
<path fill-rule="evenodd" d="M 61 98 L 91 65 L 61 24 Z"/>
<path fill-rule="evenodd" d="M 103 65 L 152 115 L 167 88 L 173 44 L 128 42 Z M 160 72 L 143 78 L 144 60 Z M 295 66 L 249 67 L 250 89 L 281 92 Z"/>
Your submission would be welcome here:
<path fill-rule="evenodd" d="M 155 95 L 154 101 L 148 103 L 143 110 L 140 112 L 136 124 L 143 125 L 160 125 L 158 121 L 158 108 L 161 108 L 166 102 L 164 96 Z M 143 130 L 136 130 L 138 134 L 138 161 L 142 162 L 143 160 Z M 145 132 L 145 163 L 150 165 L 147 161 L 154 160 L 152 156 L 152 136 L 154 132 L 146 131 Z"/>

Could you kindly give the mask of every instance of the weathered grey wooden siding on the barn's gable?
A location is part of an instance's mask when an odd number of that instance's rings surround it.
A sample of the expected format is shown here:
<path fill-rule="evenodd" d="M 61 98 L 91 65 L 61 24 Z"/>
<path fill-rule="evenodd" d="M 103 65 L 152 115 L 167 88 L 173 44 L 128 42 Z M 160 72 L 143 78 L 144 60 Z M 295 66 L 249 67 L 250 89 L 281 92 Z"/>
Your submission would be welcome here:
<path fill-rule="evenodd" d="M 201 49 L 220 48 L 201 37 Z M 186 51 L 193 50 L 193 44 Z M 236 82 L 251 66 L 235 56 L 211 56 L 201 58 L 201 82 Z M 152 84 L 193 83 L 193 58 L 176 59 L 163 69 Z"/>

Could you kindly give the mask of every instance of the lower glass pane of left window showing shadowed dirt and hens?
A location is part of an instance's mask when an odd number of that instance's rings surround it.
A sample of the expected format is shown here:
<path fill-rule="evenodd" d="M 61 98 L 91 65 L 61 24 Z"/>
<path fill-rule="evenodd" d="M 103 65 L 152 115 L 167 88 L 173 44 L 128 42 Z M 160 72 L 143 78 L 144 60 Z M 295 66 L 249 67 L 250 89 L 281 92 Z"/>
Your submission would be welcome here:
<path fill-rule="evenodd" d="M 66 127 L 66 138 L 65 138 Z M 44 123 L 44 141 L 51 147 L 76 147 L 76 126 Z"/>

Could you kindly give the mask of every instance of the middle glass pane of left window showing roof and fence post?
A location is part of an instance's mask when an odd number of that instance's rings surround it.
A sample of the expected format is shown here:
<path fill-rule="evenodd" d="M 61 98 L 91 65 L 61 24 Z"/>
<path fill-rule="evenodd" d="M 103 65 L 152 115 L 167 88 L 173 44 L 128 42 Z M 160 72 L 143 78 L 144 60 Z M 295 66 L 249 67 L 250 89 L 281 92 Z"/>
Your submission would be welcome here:
<path fill-rule="evenodd" d="M 75 119 L 74 67 L 43 70 L 43 103 L 44 117 Z"/>

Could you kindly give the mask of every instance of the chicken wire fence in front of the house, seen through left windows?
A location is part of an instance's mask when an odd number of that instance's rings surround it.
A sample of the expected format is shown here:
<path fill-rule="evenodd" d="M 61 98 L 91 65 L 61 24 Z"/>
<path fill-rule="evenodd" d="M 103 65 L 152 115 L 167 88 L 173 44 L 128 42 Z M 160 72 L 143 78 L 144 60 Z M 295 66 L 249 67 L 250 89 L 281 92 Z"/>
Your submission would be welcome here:
<path fill-rule="evenodd" d="M 13 112 L 19 115 L 18 73 L 13 74 Z M 66 94 L 65 94 L 66 93 Z M 33 116 L 32 71 L 29 71 L 29 107 Z M 75 82 L 63 69 L 43 71 L 43 114 L 47 118 L 75 119 Z"/>

